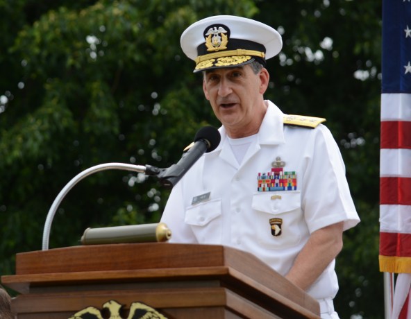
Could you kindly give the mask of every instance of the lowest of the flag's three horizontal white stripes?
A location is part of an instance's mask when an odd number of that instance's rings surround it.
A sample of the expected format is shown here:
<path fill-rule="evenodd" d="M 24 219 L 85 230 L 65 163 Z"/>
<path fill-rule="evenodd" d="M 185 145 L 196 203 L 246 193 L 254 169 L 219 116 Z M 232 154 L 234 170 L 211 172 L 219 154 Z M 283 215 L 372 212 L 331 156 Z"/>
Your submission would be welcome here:
<path fill-rule="evenodd" d="M 380 205 L 380 232 L 411 234 L 411 206 Z"/>

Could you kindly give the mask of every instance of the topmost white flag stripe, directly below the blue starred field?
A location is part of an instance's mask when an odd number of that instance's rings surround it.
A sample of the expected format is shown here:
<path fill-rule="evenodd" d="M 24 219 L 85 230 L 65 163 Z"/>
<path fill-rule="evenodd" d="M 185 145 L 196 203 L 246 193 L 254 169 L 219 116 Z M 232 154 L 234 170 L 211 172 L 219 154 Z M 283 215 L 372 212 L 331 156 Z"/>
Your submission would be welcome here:
<path fill-rule="evenodd" d="M 381 94 L 381 121 L 411 121 L 411 94 Z"/>

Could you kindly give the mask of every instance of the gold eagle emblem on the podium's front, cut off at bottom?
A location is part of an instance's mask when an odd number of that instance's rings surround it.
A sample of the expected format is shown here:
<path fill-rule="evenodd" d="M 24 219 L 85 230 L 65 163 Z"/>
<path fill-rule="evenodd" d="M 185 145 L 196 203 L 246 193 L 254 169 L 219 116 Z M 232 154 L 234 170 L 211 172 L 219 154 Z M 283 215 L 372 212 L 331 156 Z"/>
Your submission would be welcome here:
<path fill-rule="evenodd" d="M 123 319 L 120 316 L 120 309 L 123 306 L 119 304 L 115 300 L 110 300 L 103 304 L 103 309 L 108 309 L 110 311 L 110 317 L 108 319 Z M 101 314 L 101 310 L 97 309 L 96 307 L 87 307 L 77 313 L 74 313 L 73 316 L 69 317 L 69 319 L 104 319 L 107 317 L 103 317 Z M 156 311 L 146 304 L 142 304 L 141 302 L 133 302 L 130 306 L 130 313 L 128 314 L 127 318 L 124 319 L 145 319 L 145 318 L 152 318 L 152 319 L 167 319 L 161 313 Z"/>

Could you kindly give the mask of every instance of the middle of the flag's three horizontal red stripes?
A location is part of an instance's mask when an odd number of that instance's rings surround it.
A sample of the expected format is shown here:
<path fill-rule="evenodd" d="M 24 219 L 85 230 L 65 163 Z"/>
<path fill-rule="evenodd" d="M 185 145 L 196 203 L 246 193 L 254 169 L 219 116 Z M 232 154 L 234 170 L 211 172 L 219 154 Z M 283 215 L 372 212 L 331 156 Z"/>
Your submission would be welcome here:
<path fill-rule="evenodd" d="M 380 205 L 411 205 L 411 178 L 380 178 Z"/>

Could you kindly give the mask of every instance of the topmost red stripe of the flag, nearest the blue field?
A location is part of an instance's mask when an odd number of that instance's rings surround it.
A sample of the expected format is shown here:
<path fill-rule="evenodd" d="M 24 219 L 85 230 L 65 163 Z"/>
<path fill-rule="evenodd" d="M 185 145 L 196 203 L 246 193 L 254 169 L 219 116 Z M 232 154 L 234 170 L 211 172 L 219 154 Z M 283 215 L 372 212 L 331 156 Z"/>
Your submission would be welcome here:
<path fill-rule="evenodd" d="M 381 121 L 380 148 L 411 148 L 411 122 Z"/>

